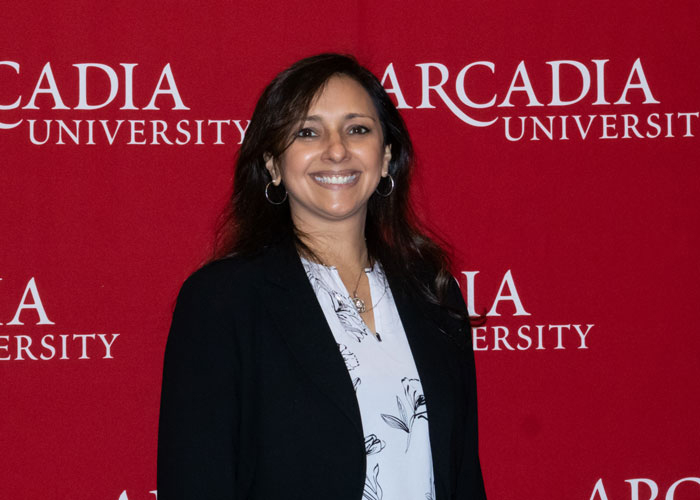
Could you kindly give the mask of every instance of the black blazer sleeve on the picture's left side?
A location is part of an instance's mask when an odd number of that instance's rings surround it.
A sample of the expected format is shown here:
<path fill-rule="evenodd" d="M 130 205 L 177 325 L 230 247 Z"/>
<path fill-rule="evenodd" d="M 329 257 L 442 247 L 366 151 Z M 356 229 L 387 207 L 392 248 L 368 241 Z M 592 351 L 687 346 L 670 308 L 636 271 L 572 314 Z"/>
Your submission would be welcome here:
<path fill-rule="evenodd" d="M 234 326 L 231 295 L 222 288 L 215 274 L 200 270 L 178 295 L 163 363 L 159 500 L 235 499 Z"/>

